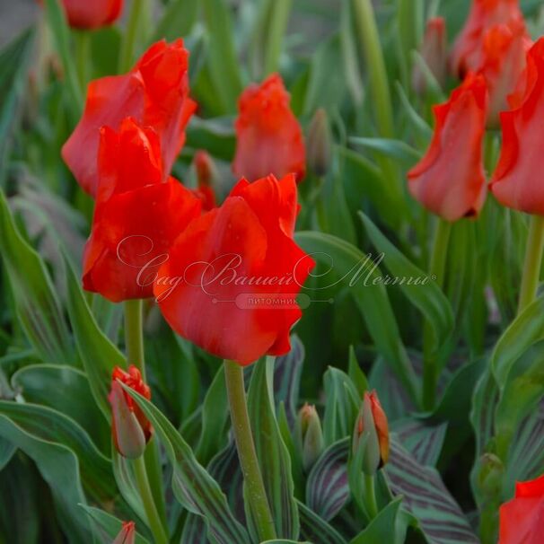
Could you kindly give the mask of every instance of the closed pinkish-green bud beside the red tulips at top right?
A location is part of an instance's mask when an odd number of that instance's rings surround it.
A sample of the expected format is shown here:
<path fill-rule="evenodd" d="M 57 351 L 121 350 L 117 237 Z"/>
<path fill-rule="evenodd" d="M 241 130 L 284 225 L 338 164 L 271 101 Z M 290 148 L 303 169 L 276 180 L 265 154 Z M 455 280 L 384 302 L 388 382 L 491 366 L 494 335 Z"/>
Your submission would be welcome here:
<path fill-rule="evenodd" d="M 419 54 L 434 75 L 436 83 L 441 87 L 446 82 L 448 52 L 446 39 L 446 23 L 443 17 L 434 17 L 427 21 L 426 32 Z M 418 94 L 426 92 L 426 75 L 421 66 L 414 66 L 412 73 L 412 86 Z"/>

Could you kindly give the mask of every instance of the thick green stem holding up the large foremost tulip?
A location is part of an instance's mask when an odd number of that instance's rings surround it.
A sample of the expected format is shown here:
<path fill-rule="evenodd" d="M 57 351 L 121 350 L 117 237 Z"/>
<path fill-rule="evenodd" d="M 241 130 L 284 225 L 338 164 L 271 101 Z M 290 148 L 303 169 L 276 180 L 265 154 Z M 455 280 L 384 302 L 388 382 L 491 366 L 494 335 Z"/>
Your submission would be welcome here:
<path fill-rule="evenodd" d="M 239 364 L 225 360 L 224 377 L 231 409 L 234 440 L 236 441 L 244 484 L 248 492 L 250 509 L 259 533 L 259 541 L 275 540 L 274 520 L 272 519 L 272 513 L 270 513 L 267 493 L 259 469 L 255 443 L 253 442 L 253 434 L 251 434 L 250 416 L 243 384 L 243 370 Z"/>

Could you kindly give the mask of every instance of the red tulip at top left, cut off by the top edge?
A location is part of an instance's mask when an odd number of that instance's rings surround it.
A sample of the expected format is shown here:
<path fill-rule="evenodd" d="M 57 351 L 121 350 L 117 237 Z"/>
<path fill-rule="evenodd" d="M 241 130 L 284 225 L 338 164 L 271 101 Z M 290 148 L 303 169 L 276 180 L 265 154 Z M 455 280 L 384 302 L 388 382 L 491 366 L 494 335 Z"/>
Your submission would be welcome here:
<path fill-rule="evenodd" d="M 38 0 L 43 4 L 44 0 Z M 71 27 L 98 29 L 116 22 L 123 9 L 123 0 L 62 0 Z"/>

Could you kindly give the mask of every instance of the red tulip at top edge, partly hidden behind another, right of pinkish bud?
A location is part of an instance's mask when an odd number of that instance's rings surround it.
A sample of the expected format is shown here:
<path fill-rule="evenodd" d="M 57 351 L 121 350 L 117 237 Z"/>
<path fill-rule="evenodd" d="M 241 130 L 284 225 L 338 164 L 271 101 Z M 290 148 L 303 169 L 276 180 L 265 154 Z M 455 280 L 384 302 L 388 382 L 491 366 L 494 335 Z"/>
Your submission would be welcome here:
<path fill-rule="evenodd" d="M 450 63 L 453 74 L 462 78 L 479 69 L 482 39 L 497 24 L 525 29 L 519 0 L 473 0 L 469 18 L 452 48 Z"/>

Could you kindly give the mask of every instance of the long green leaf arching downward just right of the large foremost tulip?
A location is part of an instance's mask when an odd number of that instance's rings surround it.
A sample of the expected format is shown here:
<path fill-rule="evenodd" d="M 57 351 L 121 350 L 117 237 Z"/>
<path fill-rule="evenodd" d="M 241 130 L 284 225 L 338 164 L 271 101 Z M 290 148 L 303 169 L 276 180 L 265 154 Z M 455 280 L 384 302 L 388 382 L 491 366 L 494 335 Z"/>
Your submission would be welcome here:
<path fill-rule="evenodd" d="M 373 285 L 377 274 L 373 270 L 372 259 L 355 246 L 329 234 L 296 233 L 295 240 L 315 259 L 330 266 L 335 276 L 349 282 L 377 351 L 390 364 L 410 397 L 418 399 L 416 374 L 402 344 L 389 298 L 383 285 Z M 333 279 L 330 283 L 335 281 Z"/>

